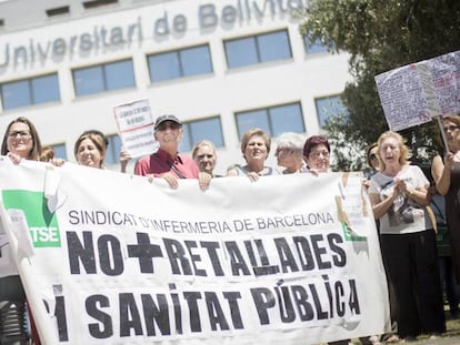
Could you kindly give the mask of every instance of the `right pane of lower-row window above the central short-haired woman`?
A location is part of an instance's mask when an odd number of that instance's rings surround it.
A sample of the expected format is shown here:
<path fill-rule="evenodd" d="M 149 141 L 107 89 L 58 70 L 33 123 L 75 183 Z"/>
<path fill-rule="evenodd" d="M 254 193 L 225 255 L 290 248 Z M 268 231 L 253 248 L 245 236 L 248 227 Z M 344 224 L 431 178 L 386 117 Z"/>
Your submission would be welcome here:
<path fill-rule="evenodd" d="M 299 103 L 270 108 L 269 114 L 273 136 L 283 132 L 303 133 L 306 131 Z"/>

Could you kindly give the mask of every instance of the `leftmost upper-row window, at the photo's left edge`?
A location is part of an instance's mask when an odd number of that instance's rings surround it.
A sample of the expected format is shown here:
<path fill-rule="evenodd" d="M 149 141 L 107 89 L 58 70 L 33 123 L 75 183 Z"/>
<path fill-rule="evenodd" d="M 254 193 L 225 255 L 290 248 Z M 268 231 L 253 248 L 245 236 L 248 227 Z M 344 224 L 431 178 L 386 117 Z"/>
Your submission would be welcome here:
<path fill-rule="evenodd" d="M 0 85 L 4 110 L 60 100 L 58 74 L 7 82 Z"/>

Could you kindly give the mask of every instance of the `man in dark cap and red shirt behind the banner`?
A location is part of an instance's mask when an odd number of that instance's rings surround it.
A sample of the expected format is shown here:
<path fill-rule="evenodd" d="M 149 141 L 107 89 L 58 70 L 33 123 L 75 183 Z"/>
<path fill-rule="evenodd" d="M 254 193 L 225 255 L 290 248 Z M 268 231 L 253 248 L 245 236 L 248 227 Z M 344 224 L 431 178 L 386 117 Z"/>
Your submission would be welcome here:
<path fill-rule="evenodd" d="M 163 177 L 173 189 L 178 186 L 178 179 L 199 179 L 202 189 L 209 185 L 210 177 L 200 175 L 194 161 L 178 152 L 182 139 L 182 123 L 178 118 L 172 114 L 157 118 L 153 135 L 160 146 L 136 163 L 134 174 Z"/>

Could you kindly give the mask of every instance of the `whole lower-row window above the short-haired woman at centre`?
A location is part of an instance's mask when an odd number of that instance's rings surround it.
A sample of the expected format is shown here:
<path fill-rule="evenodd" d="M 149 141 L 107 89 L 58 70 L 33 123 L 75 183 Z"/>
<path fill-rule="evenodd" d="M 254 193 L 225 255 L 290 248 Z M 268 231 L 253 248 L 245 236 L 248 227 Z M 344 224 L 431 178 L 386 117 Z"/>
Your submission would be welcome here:
<path fill-rule="evenodd" d="M 239 138 L 253 128 L 264 130 L 270 136 L 278 136 L 283 132 L 303 133 L 303 114 L 300 103 L 277 105 L 236 114 Z"/>

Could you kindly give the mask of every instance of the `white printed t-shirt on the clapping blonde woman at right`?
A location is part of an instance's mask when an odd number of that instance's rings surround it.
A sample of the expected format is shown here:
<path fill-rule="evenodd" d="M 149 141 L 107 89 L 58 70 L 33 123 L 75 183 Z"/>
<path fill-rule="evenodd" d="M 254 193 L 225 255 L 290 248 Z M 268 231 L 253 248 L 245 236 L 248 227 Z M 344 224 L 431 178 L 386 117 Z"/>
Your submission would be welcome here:
<path fill-rule="evenodd" d="M 408 165 L 399 174 L 398 179 L 404 180 L 408 189 L 428 189 L 430 182 L 417 165 Z M 381 172 L 371 177 L 369 194 L 379 194 L 380 201 L 391 196 L 394 189 L 394 177 Z M 380 217 L 381 234 L 407 234 L 431 229 L 431 220 L 427 207 L 416 203 L 403 195 L 398 195 L 390 209 Z"/>

